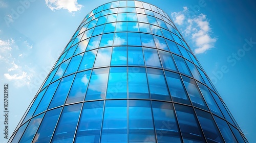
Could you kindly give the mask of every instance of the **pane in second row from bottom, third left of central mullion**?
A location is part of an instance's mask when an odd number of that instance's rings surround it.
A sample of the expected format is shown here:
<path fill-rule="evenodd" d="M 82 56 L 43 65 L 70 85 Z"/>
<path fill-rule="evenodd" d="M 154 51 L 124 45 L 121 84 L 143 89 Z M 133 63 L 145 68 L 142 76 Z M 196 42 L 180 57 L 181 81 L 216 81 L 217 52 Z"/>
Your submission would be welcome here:
<path fill-rule="evenodd" d="M 75 80 L 70 89 L 66 104 L 83 101 L 91 75 L 91 70 L 76 74 Z"/>

